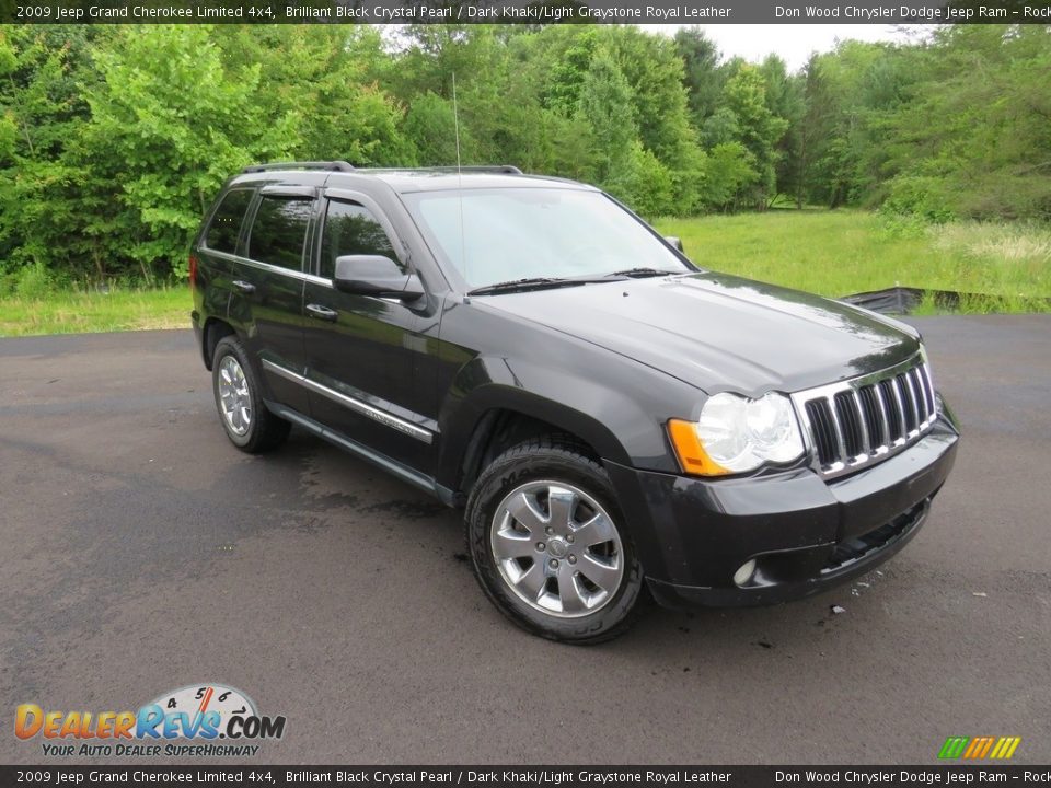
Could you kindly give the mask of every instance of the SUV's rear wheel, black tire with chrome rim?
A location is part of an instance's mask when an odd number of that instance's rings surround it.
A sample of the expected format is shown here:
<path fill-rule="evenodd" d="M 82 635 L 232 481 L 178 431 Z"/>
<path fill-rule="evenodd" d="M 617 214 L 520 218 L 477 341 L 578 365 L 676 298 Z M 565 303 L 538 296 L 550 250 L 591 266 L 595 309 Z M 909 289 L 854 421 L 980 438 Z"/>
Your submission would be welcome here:
<path fill-rule="evenodd" d="M 228 360 L 229 359 L 229 360 Z M 230 390 L 231 372 L 240 371 L 243 378 L 236 378 L 240 402 L 249 403 L 249 417 L 236 408 L 239 416 L 228 418 L 223 407 L 223 391 Z M 224 378 L 227 375 L 227 378 Z M 243 386 L 240 385 L 243 382 Z M 249 363 L 249 355 L 235 336 L 226 336 L 216 344 L 216 354 L 211 363 L 211 390 L 219 412 L 219 422 L 223 431 L 238 449 L 250 454 L 258 454 L 281 445 L 288 438 L 291 425 L 275 416 L 263 404 L 258 376 Z M 233 410 L 233 408 L 231 408 Z M 243 431 L 242 431 L 243 430 Z"/>

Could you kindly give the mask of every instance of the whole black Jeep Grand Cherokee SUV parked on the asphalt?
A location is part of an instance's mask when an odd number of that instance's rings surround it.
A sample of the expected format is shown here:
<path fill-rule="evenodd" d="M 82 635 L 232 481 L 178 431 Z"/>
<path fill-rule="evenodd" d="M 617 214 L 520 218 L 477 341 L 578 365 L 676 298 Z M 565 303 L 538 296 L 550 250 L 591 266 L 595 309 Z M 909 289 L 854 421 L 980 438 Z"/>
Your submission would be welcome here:
<path fill-rule="evenodd" d="M 594 642 L 767 603 L 920 529 L 958 430 L 915 331 L 708 271 L 515 167 L 247 167 L 193 244 L 194 328 L 249 452 L 291 425 L 465 508 L 512 621 Z"/>

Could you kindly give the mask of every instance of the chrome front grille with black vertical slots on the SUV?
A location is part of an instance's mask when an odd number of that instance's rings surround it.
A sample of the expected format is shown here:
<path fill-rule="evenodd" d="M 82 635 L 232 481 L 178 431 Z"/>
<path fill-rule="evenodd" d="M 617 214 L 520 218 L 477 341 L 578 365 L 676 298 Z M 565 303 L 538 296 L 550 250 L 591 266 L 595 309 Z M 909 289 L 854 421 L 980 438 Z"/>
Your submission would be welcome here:
<path fill-rule="evenodd" d="M 937 418 L 922 358 L 876 374 L 793 395 L 825 476 L 855 471 L 920 439 Z"/>

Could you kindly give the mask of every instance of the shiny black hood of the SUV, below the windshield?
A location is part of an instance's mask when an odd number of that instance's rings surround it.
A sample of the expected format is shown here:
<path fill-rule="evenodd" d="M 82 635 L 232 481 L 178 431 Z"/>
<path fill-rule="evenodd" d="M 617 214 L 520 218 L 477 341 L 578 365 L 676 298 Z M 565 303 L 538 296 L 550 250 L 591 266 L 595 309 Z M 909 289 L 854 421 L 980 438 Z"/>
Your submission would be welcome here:
<path fill-rule="evenodd" d="M 906 360 L 914 329 L 818 296 L 697 273 L 476 299 L 709 394 L 793 392 Z"/>

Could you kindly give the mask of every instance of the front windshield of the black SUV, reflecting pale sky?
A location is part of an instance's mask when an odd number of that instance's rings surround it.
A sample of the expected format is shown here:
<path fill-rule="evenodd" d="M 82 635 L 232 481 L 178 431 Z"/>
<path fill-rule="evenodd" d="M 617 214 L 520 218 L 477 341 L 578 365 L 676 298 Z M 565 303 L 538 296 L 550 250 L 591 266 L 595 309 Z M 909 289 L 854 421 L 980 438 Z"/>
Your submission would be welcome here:
<path fill-rule="evenodd" d="M 690 270 L 644 224 L 598 192 L 464 189 L 417 192 L 404 199 L 431 248 L 459 271 L 469 290 L 533 277 Z"/>

